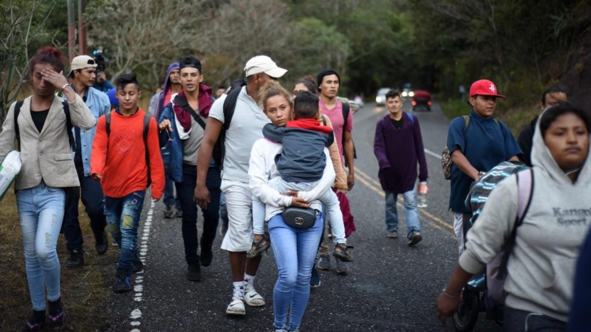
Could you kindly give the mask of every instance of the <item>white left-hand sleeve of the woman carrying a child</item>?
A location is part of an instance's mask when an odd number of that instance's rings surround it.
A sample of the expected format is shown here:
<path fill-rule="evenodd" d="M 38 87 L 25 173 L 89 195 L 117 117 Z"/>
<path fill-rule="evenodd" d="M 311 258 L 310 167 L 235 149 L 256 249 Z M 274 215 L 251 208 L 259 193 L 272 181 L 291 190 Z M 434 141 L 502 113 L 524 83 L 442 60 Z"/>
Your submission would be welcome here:
<path fill-rule="evenodd" d="M 291 197 L 282 195 L 267 184 L 269 174 L 267 172 L 265 148 L 262 146 L 264 143 L 264 139 L 259 139 L 252 145 L 248 168 L 252 195 L 265 204 L 288 207 L 291 205 Z"/>

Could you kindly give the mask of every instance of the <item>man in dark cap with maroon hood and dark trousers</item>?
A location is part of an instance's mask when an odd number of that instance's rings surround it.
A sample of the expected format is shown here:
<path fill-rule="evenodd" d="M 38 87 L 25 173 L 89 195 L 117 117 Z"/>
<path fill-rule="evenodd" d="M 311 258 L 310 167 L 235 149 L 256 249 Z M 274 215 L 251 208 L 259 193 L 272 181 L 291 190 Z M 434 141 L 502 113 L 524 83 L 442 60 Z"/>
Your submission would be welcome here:
<path fill-rule="evenodd" d="M 202 83 L 203 73 L 199 59 L 192 56 L 181 58 L 179 69 L 182 89 L 177 95 L 171 96 L 171 102 L 162 110 L 158 129 L 161 131 L 161 142 L 168 141 L 168 176 L 174 180 L 183 211 L 183 242 L 188 265 L 186 276 L 190 281 L 200 281 L 200 265 L 209 266 L 213 258 L 212 245 L 219 219 L 222 180 L 219 165 L 212 163 L 207 170 L 206 180 L 211 201 L 202 209 L 203 233 L 201 252 L 198 255 L 197 205 L 193 201 L 193 193 L 197 182 L 197 154 L 203 141 L 213 97 L 212 88 Z"/>

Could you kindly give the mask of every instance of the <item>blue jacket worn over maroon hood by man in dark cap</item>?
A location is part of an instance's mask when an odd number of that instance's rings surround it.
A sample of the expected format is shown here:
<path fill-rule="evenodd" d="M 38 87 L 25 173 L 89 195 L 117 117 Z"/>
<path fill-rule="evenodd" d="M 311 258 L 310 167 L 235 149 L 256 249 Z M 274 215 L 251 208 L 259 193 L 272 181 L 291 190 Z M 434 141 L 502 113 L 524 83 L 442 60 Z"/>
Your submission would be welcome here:
<path fill-rule="evenodd" d="M 168 141 L 168 135 L 166 131 L 162 131 L 159 135 L 160 138 L 160 147 L 167 147 L 167 151 L 165 149 L 162 150 L 163 153 L 163 160 L 165 158 L 164 154 L 168 154 L 168 176 L 173 179 L 174 182 L 182 182 L 183 181 L 183 142 L 178 137 L 177 131 L 177 123 L 174 121 L 174 110 L 173 104 L 168 103 L 160 113 L 160 119 L 158 119 L 158 123 L 163 122 L 164 120 L 170 121 L 173 132 L 169 132 L 170 134 L 170 141 Z M 209 167 L 216 167 L 216 163 L 212 158 L 212 161 L 209 164 Z"/>

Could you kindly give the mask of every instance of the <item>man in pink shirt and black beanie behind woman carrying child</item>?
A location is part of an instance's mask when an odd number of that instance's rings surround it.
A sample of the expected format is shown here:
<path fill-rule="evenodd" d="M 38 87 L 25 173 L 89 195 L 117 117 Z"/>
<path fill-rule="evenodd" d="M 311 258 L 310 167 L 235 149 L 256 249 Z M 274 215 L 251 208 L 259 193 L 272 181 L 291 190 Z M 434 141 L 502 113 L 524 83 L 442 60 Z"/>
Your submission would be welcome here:
<path fill-rule="evenodd" d="M 342 154 L 341 161 L 343 166 L 347 165 L 349 175 L 347 177 L 348 190 L 353 188 L 355 184 L 355 171 L 353 168 L 353 159 L 355 158 L 355 152 L 353 150 L 353 112 L 349 109 L 348 115 L 343 114 L 343 104 L 336 99 L 339 93 L 340 87 L 340 76 L 332 69 L 326 69 L 320 72 L 317 77 L 318 89 L 320 92 L 320 101 L 318 103 L 320 110 L 324 116 L 328 116 L 330 122 L 333 125 L 333 131 L 335 133 L 335 141 L 339 146 L 339 152 Z M 348 107 L 348 106 L 346 106 Z M 344 158 L 343 158 L 344 157 Z M 345 163 L 346 160 L 346 163 Z M 346 200 L 346 196 L 342 196 Z M 353 219 L 349 204 L 341 204 L 341 210 L 343 217 L 350 216 Z M 330 270 L 330 255 L 328 241 L 326 239 L 327 227 L 325 227 L 324 237 L 319 249 L 319 261 L 317 267 L 322 270 Z M 336 272 L 338 274 L 346 274 L 349 272 L 349 263 L 337 261 Z"/>

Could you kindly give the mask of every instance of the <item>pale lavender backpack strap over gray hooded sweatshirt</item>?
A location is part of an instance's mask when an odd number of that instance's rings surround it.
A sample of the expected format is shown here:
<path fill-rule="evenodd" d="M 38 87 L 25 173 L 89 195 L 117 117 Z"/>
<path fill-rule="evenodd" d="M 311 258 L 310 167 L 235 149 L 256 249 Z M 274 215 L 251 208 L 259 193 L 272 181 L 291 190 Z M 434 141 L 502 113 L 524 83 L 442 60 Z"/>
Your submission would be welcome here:
<path fill-rule="evenodd" d="M 515 216 L 515 225 L 511 232 L 511 237 L 503 246 L 503 254 L 501 258 L 501 265 L 499 265 L 498 279 L 505 278 L 507 275 L 507 264 L 509 256 L 515 247 L 515 239 L 517 239 L 517 228 L 521 226 L 527 211 L 530 209 L 532 193 L 534 192 L 534 171 L 532 168 L 517 173 L 517 190 L 518 190 L 518 208 L 517 216 Z"/>

